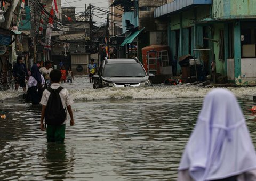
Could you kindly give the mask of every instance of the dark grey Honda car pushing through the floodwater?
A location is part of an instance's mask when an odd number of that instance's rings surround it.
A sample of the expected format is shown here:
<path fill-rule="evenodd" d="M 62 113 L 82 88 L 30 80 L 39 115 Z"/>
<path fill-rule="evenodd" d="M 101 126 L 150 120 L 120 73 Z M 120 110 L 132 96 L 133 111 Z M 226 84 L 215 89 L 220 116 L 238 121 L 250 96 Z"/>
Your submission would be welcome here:
<path fill-rule="evenodd" d="M 147 87 L 152 86 L 151 78 L 147 75 L 140 61 L 134 59 L 105 59 L 100 65 L 97 75 L 92 76 L 93 88 L 101 87 Z"/>

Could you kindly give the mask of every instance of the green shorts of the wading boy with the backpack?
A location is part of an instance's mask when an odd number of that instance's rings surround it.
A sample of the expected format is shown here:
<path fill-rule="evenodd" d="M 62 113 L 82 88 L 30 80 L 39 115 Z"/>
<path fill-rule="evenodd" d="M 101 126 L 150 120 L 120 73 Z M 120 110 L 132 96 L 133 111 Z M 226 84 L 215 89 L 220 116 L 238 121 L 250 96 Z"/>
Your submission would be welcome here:
<path fill-rule="evenodd" d="M 47 125 L 47 142 L 64 143 L 66 124 Z"/>

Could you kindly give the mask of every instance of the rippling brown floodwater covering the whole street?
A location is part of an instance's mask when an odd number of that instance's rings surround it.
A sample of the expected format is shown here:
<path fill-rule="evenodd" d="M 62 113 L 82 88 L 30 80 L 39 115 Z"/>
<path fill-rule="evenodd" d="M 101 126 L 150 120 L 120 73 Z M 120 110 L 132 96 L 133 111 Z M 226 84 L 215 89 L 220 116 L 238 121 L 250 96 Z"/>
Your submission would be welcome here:
<path fill-rule="evenodd" d="M 22 90 L 0 91 L 0 180 L 175 180 L 203 97 L 211 89 L 155 85 L 92 89 L 86 76 L 68 88 L 75 125 L 65 144 L 47 144 L 40 108 Z M 256 146 L 256 87 L 229 88 L 237 96 Z"/>

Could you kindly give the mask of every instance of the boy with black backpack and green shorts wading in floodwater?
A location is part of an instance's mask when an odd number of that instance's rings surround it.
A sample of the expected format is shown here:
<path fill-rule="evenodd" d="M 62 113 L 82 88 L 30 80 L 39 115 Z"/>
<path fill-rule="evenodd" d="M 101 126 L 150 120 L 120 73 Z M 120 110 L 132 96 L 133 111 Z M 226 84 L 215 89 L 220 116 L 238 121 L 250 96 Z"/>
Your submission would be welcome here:
<path fill-rule="evenodd" d="M 70 116 L 70 126 L 73 126 L 74 119 L 71 109 L 73 100 L 69 96 L 68 90 L 66 88 L 60 87 L 60 70 L 53 69 L 50 73 L 50 78 L 52 85 L 50 88 L 45 89 L 40 102 L 43 105 L 40 127 L 42 131 L 45 130 L 43 124 L 43 120 L 45 118 L 45 122 L 47 124 L 47 142 L 63 143 L 66 129 L 66 111 L 64 112 L 65 115 L 63 115 L 63 110 L 67 108 Z M 60 104 L 62 108 L 59 106 Z"/>

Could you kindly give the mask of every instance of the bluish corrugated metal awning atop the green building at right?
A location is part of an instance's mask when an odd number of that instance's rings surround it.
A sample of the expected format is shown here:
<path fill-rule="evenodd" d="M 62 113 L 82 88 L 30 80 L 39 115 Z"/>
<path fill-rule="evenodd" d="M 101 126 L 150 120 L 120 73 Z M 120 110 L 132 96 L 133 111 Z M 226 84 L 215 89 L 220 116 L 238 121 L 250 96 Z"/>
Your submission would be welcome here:
<path fill-rule="evenodd" d="M 154 10 L 154 18 L 164 17 L 189 6 L 205 4 L 212 4 L 212 0 L 175 0 L 171 3 L 157 7 Z"/>

